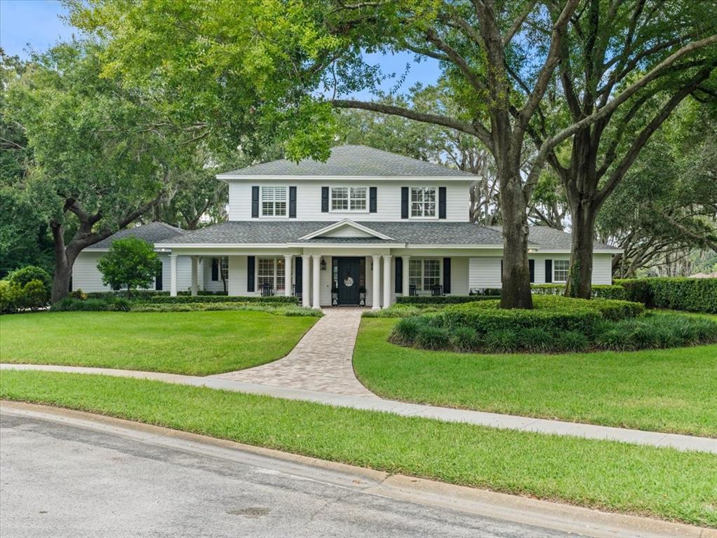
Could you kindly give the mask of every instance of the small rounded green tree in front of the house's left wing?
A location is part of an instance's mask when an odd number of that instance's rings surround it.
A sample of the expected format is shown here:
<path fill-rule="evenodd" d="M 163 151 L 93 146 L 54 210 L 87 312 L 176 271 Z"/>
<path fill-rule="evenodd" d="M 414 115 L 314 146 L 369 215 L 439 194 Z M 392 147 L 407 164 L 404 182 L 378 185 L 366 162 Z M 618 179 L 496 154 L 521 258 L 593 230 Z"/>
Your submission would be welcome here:
<path fill-rule="evenodd" d="M 149 287 L 161 266 L 154 246 L 136 237 L 113 241 L 97 264 L 103 284 L 113 289 L 126 287 L 128 296 L 133 288 Z"/>

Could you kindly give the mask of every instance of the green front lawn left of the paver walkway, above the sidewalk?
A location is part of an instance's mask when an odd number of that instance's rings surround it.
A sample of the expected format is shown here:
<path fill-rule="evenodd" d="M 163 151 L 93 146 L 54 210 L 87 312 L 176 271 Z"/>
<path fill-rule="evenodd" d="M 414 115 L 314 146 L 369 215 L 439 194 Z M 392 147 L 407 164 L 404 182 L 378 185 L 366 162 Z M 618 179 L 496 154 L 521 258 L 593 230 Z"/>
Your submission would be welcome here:
<path fill-rule="evenodd" d="M 243 311 L 13 314 L 0 317 L 0 360 L 209 375 L 285 356 L 317 320 Z"/>

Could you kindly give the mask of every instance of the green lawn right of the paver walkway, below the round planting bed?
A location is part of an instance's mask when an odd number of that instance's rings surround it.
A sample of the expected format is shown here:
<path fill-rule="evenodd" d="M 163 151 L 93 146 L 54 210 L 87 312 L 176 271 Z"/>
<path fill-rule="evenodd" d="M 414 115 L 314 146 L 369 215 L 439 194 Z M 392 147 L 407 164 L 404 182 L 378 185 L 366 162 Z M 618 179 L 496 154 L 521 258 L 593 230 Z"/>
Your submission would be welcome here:
<path fill-rule="evenodd" d="M 394 400 L 717 437 L 717 345 L 566 355 L 477 355 L 386 341 L 397 320 L 365 318 L 361 383 Z"/>

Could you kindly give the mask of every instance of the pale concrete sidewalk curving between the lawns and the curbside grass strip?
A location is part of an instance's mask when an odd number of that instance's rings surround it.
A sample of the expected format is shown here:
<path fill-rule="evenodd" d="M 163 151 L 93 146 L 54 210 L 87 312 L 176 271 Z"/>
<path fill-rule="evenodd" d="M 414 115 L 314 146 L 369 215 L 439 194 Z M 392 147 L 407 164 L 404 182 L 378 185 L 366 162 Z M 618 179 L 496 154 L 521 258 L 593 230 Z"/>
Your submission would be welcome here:
<path fill-rule="evenodd" d="M 680 451 L 701 451 L 717 453 L 717 439 L 677 435 L 675 433 L 658 433 L 652 431 L 629 430 L 626 428 L 610 428 L 564 421 L 549 421 L 543 418 L 530 418 L 517 415 L 500 415 L 462 409 L 442 408 L 434 405 L 418 405 L 415 403 L 397 402 L 382 398 L 365 398 L 356 395 L 323 393 L 297 388 L 257 385 L 241 381 L 192 375 L 178 375 L 157 372 L 138 372 L 135 370 L 113 370 L 111 368 L 85 368 L 75 366 L 54 365 L 11 365 L 0 364 L 1 370 L 43 370 L 47 372 L 65 372 L 82 374 L 113 375 L 115 377 L 148 379 L 207 387 L 214 389 L 233 390 L 240 393 L 251 393 L 285 398 L 288 400 L 306 400 L 339 407 L 384 411 L 402 416 L 419 416 L 433 418 L 445 422 L 462 422 L 491 428 L 505 428 L 519 431 L 533 431 L 560 436 L 574 436 L 588 439 L 607 439 L 638 445 L 655 447 L 671 447 Z"/>

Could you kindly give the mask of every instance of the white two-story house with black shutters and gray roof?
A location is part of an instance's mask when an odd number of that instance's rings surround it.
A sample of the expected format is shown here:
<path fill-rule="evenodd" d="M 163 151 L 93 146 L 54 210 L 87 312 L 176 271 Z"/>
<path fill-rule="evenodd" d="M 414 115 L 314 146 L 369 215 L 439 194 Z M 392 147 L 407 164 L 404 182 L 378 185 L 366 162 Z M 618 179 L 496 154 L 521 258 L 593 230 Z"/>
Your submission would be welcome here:
<path fill-rule="evenodd" d="M 326 163 L 276 160 L 217 178 L 229 184 L 229 221 L 153 241 L 171 294 L 221 280 L 229 295 L 379 308 L 402 294 L 500 288 L 503 237 L 470 223 L 473 174 L 344 145 Z M 534 227 L 529 239 L 533 281 L 565 282 L 570 235 Z M 593 282 L 609 284 L 617 249 L 595 247 Z"/>

